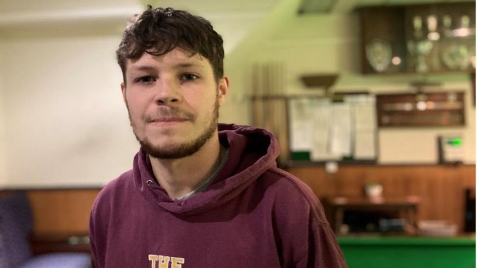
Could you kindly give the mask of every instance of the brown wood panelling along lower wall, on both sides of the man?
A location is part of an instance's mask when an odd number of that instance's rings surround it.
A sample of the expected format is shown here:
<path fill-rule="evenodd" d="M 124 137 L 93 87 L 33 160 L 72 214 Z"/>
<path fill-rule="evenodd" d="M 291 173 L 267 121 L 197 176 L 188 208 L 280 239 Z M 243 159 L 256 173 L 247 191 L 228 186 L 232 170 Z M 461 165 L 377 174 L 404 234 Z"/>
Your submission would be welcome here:
<path fill-rule="evenodd" d="M 420 220 L 446 220 L 462 230 L 466 188 L 476 187 L 474 165 L 460 166 L 340 166 L 327 174 L 322 166 L 293 167 L 300 178 L 323 200 L 327 197 L 364 197 L 363 186 L 380 183 L 385 198 L 417 195 Z M 28 190 L 35 220 L 34 231 L 86 233 L 89 211 L 100 189 Z"/>

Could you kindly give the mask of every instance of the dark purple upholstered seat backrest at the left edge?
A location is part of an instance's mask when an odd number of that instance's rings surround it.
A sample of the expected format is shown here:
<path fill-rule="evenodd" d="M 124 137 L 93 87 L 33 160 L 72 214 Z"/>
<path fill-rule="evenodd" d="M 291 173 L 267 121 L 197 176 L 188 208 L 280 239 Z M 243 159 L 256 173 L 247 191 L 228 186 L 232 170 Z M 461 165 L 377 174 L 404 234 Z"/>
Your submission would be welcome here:
<path fill-rule="evenodd" d="M 0 196 L 0 268 L 12 268 L 32 256 L 30 204 L 24 192 Z"/>

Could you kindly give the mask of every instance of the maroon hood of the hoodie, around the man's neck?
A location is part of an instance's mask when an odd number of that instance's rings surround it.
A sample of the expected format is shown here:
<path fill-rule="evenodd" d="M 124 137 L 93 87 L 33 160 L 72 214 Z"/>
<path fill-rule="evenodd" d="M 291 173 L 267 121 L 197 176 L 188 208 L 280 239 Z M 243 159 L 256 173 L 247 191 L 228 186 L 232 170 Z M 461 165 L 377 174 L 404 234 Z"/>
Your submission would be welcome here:
<path fill-rule="evenodd" d="M 134 187 L 150 204 L 175 214 L 193 215 L 227 202 L 268 168 L 276 166 L 280 147 L 273 134 L 264 129 L 220 123 L 218 138 L 228 148 L 228 159 L 205 191 L 195 193 L 184 201 L 171 199 L 157 184 L 149 157 L 142 148 L 134 156 Z"/>

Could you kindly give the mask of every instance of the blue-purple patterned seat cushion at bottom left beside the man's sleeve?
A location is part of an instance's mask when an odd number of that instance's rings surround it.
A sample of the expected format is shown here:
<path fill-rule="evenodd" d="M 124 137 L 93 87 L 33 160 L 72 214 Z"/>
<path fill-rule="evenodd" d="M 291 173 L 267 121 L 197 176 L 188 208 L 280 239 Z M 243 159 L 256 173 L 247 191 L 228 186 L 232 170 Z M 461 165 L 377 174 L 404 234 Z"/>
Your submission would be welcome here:
<path fill-rule="evenodd" d="M 49 253 L 30 258 L 15 268 L 91 268 L 87 253 Z"/>

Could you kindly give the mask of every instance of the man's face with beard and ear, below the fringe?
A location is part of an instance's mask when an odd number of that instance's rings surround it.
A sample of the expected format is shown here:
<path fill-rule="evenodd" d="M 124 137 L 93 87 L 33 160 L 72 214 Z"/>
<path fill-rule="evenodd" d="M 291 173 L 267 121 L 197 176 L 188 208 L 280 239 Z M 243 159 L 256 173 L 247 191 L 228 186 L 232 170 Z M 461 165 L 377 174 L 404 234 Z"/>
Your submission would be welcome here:
<path fill-rule="evenodd" d="M 197 152 L 217 131 L 218 108 L 228 80 L 215 80 L 200 54 L 174 48 L 162 56 L 144 53 L 126 64 L 121 84 L 132 130 L 146 153 L 181 158 Z"/>

